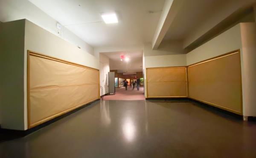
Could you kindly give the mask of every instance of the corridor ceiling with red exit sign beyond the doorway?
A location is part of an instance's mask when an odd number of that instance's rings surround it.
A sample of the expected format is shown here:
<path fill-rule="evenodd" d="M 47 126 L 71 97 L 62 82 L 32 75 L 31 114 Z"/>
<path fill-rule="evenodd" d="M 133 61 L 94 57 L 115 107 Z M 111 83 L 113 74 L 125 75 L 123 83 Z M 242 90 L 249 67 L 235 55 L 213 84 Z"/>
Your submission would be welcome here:
<path fill-rule="evenodd" d="M 119 73 L 136 73 L 143 71 L 143 52 L 126 51 L 126 52 L 108 52 L 102 53 L 110 59 L 110 70 L 118 70 Z M 120 55 L 125 55 L 130 59 L 129 62 L 121 61 Z"/>

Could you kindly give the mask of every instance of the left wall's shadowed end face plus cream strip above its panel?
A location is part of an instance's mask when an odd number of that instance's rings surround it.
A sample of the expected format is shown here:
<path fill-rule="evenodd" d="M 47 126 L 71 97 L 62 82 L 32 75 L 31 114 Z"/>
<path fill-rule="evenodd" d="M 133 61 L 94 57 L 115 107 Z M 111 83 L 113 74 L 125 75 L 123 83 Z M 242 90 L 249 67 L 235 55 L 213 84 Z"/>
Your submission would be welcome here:
<path fill-rule="evenodd" d="M 0 124 L 3 128 L 27 129 L 27 50 L 99 69 L 99 59 L 95 56 L 28 20 L 17 20 L 0 25 L 0 38 L 3 39 L 1 53 L 6 52 L 0 58 L 3 59 L 2 68 L 5 68 L 3 69 L 5 77 L 1 84 L 4 87 L 10 87 L 9 91 L 1 92 L 3 93 L 1 96 L 4 96 L 1 98 L 0 106 L 2 113 Z M 9 69 L 6 69 L 8 67 Z"/>

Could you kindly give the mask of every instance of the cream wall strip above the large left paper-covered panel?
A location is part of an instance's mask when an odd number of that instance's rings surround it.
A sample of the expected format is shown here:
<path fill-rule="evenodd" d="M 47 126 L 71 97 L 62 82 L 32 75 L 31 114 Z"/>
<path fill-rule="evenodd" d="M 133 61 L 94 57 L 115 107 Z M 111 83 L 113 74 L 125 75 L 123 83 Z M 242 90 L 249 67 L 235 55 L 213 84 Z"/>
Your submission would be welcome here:
<path fill-rule="evenodd" d="M 96 59 L 95 56 L 88 54 L 86 51 L 79 49 L 76 45 L 61 39 L 29 20 L 26 20 L 25 30 L 25 51 L 36 51 L 99 69 L 99 59 Z"/>

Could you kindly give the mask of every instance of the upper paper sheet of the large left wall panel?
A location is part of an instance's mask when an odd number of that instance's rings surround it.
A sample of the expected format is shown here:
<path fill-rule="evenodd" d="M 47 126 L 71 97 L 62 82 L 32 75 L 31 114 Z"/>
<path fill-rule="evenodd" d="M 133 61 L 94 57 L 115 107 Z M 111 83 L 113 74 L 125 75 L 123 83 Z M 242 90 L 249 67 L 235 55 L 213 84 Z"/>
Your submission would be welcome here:
<path fill-rule="evenodd" d="M 97 84 L 96 70 L 30 56 L 30 88 Z M 93 76 L 93 77 L 87 77 Z"/>

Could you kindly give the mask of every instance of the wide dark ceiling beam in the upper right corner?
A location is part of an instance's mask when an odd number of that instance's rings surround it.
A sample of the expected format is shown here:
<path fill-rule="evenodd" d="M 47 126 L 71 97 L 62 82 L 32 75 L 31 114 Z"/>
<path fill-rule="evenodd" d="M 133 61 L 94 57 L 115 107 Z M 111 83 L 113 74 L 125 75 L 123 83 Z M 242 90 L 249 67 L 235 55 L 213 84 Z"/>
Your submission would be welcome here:
<path fill-rule="evenodd" d="M 213 35 L 220 34 L 228 25 L 238 22 L 243 17 L 242 14 L 245 15 L 247 11 L 253 10 L 255 2 L 256 0 L 223 0 L 217 3 L 212 8 L 211 14 L 189 31 L 183 40 L 183 48 L 186 52 L 191 51 L 203 44 L 202 42 L 210 40 L 209 37 L 213 38 Z"/>

